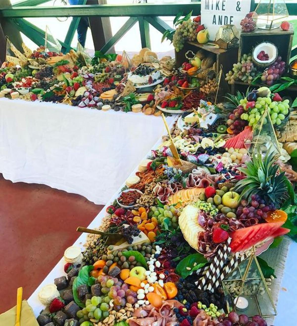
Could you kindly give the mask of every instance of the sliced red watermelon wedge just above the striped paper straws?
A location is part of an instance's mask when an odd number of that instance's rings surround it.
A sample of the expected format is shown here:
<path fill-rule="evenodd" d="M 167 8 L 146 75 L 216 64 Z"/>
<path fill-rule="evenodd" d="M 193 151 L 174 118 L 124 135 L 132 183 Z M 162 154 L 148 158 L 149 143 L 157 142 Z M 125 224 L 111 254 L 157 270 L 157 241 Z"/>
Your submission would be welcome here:
<path fill-rule="evenodd" d="M 262 244 L 290 232 L 289 229 L 281 228 L 283 224 L 284 222 L 261 223 L 231 232 L 230 247 L 232 252 L 248 250 L 253 245 Z"/>

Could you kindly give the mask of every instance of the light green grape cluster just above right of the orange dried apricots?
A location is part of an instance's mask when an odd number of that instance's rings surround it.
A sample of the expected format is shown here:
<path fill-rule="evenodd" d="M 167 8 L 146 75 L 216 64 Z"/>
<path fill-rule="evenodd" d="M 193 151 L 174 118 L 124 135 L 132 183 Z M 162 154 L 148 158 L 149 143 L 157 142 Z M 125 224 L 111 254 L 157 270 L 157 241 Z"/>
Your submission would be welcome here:
<path fill-rule="evenodd" d="M 181 211 L 175 208 L 174 206 L 164 205 L 162 207 L 150 207 L 149 217 L 155 217 L 158 220 L 158 224 L 162 227 L 164 226 L 164 220 L 168 226 L 172 226 L 174 229 L 178 227 L 178 217 L 181 215 Z"/>

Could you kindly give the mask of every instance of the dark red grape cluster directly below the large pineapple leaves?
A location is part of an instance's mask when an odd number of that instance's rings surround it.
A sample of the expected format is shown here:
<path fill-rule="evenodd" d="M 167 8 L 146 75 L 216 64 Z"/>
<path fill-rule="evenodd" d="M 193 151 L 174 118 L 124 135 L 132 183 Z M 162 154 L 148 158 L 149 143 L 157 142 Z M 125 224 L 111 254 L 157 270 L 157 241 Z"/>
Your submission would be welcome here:
<path fill-rule="evenodd" d="M 245 222 L 250 218 L 256 218 L 259 222 L 264 222 L 267 218 L 267 212 L 275 210 L 274 205 L 266 205 L 265 200 L 261 199 L 260 196 L 252 195 L 250 203 L 245 199 L 241 200 L 240 206 L 236 211 L 236 216 L 245 225 Z M 250 224 L 245 226 L 250 226 Z"/>

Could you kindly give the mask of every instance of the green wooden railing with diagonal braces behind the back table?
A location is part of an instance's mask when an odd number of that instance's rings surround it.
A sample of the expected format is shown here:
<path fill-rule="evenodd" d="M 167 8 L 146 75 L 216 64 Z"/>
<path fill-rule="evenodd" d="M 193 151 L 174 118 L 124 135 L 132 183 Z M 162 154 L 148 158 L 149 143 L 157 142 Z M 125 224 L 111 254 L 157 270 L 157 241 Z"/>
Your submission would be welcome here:
<path fill-rule="evenodd" d="M 200 14 L 201 3 L 189 2 L 187 4 L 133 4 L 133 5 L 83 5 L 83 6 L 64 6 L 46 7 L 40 6 L 49 0 L 23 0 L 8 8 L 0 9 L 0 19 L 9 20 L 14 26 L 37 45 L 44 44 L 45 31 L 24 18 L 29 17 L 73 17 L 69 30 L 64 40 L 59 40 L 62 51 L 67 52 L 71 49 L 71 42 L 81 16 L 99 17 L 129 17 L 127 22 L 111 37 L 100 49 L 107 52 L 115 43 L 123 37 L 128 30 L 137 22 L 139 24 L 142 47 L 150 47 L 149 24 L 154 26 L 159 32 L 164 31 L 170 26 L 161 20 L 159 16 L 175 16 L 177 13 L 184 14 L 193 10 L 193 16 Z M 87 0 L 84 0 L 86 3 Z M 287 2 L 290 15 L 297 15 L 297 2 Z M 255 2 L 252 1 L 252 8 Z M 297 21 L 296 21 L 297 24 Z M 294 44 L 294 43 L 293 43 Z M 0 50 L 1 51 L 1 50 Z M 297 46 L 293 46 L 292 56 L 297 54 Z"/>

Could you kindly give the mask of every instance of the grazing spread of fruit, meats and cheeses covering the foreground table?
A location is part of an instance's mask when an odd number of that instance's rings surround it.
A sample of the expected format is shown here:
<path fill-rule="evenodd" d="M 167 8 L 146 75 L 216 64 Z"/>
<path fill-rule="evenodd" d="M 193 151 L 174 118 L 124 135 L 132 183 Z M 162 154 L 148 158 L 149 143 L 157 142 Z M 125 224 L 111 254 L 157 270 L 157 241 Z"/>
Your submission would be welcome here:
<path fill-rule="evenodd" d="M 175 84 L 159 85 L 155 99 L 182 100 Z M 297 173 L 265 126 L 290 108 L 267 87 L 196 104 L 180 116 L 186 127 L 176 120 L 105 206 L 100 234 L 65 250 L 64 273 L 38 293 L 40 325 L 273 323 L 279 261 L 263 254 L 294 238 Z"/>

